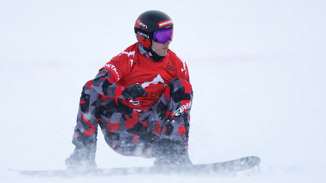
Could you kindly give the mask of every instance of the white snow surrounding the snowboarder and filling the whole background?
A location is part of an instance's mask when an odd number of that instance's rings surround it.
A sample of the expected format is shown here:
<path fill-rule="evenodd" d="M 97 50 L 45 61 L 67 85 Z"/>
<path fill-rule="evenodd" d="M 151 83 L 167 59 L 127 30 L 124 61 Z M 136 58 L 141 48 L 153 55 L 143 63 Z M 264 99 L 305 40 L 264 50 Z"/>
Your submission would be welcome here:
<path fill-rule="evenodd" d="M 137 16 L 174 20 L 171 49 L 194 89 L 193 163 L 259 156 L 255 171 L 210 176 L 37 178 L 63 169 L 79 95 L 108 59 L 135 42 Z M 1 182 L 322 182 L 326 180 L 324 1 L 0 0 Z M 98 135 L 98 167 L 151 166 Z"/>

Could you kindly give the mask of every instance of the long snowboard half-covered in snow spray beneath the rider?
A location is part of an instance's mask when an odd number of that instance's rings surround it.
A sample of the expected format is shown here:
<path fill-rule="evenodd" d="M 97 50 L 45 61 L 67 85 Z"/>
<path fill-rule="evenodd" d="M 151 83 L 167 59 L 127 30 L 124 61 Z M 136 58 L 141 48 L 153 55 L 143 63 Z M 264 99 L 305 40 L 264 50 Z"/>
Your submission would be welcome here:
<path fill-rule="evenodd" d="M 248 156 L 236 160 L 195 164 L 187 166 L 148 166 L 148 167 L 123 167 L 123 168 L 90 168 L 90 169 L 62 169 L 62 170 L 15 170 L 21 175 L 28 176 L 112 176 L 112 175 L 149 175 L 149 174 L 191 174 L 228 173 L 249 170 L 260 163 L 260 158 Z"/>

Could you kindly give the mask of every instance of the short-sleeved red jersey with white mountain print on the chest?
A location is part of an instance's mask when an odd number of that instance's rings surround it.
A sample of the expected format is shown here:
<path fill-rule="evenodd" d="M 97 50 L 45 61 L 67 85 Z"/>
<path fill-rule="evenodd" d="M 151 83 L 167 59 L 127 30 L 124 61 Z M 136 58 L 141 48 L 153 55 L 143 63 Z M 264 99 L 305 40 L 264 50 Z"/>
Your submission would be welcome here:
<path fill-rule="evenodd" d="M 173 78 L 189 80 L 187 65 L 174 52 L 169 50 L 166 57 L 153 62 L 140 53 L 138 43 L 113 57 L 102 69 L 110 72 L 111 77 L 106 79 L 117 85 L 114 92 L 117 97 L 121 97 L 124 87 L 135 83 L 142 85 L 148 95 L 129 101 L 122 99 L 127 106 L 139 110 L 150 109 Z"/>

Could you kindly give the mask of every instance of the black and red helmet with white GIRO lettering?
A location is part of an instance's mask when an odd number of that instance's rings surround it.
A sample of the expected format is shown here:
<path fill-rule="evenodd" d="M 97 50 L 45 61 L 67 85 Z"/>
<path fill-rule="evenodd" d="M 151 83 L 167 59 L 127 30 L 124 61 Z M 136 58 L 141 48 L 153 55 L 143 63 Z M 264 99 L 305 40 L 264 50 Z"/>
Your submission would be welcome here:
<path fill-rule="evenodd" d="M 134 32 L 138 42 L 143 47 L 149 48 L 155 31 L 172 27 L 173 22 L 169 15 L 160 11 L 151 10 L 139 15 L 134 24 Z"/>

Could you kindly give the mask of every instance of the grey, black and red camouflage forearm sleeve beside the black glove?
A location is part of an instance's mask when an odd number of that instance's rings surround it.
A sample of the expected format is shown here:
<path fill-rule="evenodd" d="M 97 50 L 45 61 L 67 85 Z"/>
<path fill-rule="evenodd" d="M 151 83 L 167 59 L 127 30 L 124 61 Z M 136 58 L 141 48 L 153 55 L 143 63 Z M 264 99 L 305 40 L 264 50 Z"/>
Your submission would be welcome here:
<path fill-rule="evenodd" d="M 116 82 L 117 80 L 110 71 L 101 69 L 90 84 L 92 89 L 100 95 L 121 97 L 124 87 L 117 85 Z"/>

